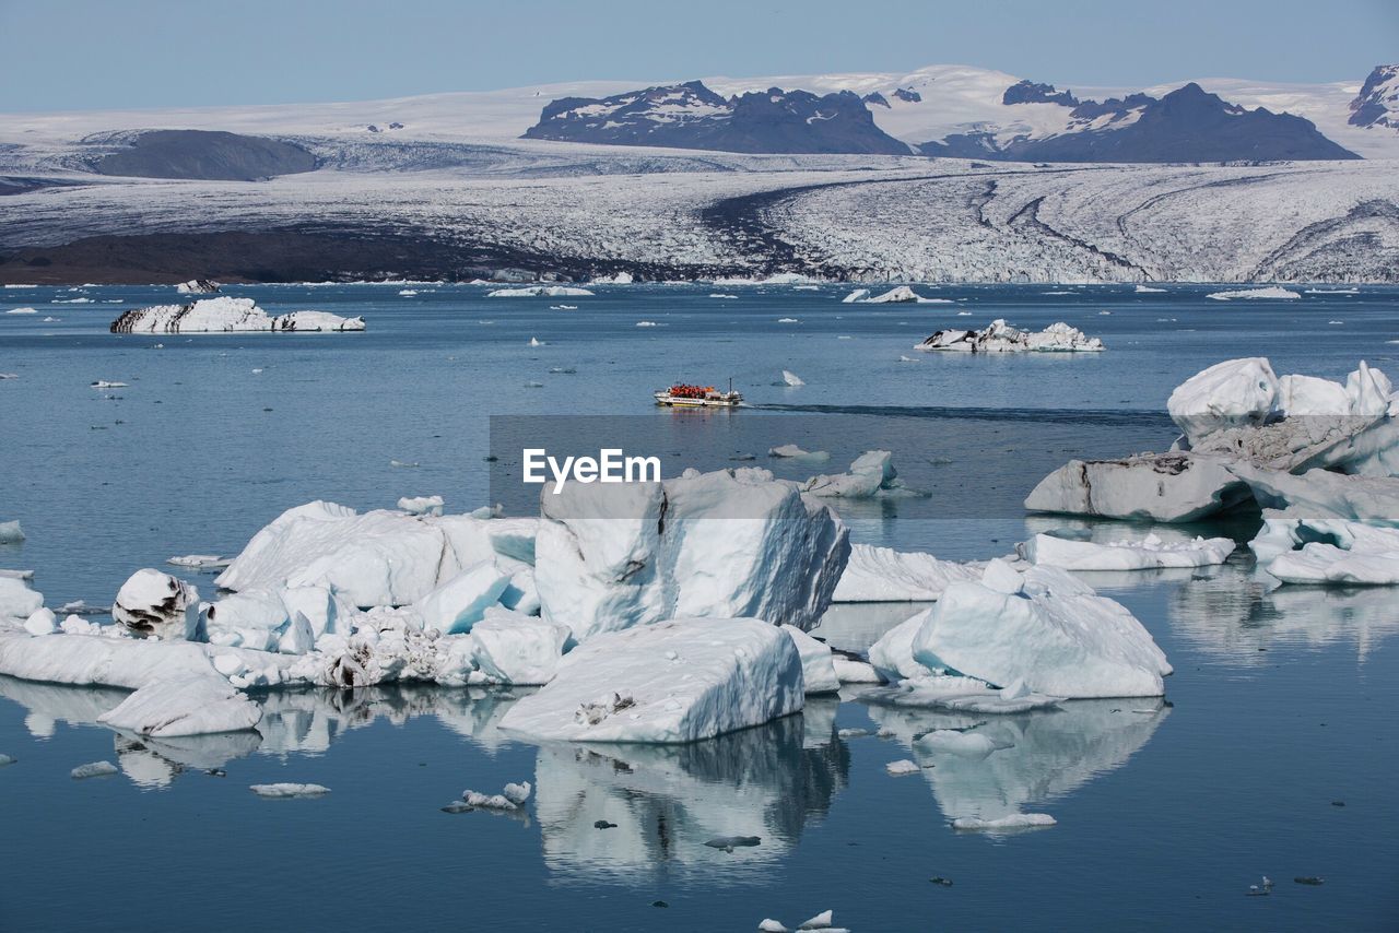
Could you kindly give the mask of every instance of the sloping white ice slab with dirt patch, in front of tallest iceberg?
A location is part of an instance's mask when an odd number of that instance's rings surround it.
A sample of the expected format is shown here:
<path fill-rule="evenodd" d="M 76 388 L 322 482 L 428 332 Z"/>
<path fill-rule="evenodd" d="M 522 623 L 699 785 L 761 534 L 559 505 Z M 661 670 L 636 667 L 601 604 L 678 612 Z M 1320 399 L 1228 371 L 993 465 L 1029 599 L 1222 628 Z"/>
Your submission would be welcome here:
<path fill-rule="evenodd" d="M 755 618 L 677 618 L 583 642 L 553 683 L 505 713 L 501 729 L 534 739 L 683 743 L 802 705 L 802 657 L 781 628 Z"/>

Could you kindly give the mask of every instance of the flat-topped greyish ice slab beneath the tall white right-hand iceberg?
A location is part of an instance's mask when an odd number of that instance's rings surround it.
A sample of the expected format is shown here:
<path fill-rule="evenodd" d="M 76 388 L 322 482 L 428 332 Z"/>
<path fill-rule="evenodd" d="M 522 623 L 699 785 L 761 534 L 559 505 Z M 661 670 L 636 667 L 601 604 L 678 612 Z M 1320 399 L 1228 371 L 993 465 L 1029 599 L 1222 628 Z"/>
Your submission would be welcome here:
<path fill-rule="evenodd" d="M 1069 460 L 1030 491 L 1031 512 L 1193 522 L 1249 498 L 1219 456 L 1143 453 L 1121 460 Z"/>

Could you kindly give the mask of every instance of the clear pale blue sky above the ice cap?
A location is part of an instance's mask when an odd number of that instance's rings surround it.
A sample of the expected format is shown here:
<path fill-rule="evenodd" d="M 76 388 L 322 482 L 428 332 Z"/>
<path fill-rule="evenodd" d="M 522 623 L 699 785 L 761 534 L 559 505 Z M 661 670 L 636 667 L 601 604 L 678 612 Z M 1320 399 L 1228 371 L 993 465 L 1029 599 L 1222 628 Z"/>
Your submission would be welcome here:
<path fill-rule="evenodd" d="M 0 112 L 935 63 L 1060 87 L 1360 81 L 1396 60 L 1396 0 L 0 0 Z"/>

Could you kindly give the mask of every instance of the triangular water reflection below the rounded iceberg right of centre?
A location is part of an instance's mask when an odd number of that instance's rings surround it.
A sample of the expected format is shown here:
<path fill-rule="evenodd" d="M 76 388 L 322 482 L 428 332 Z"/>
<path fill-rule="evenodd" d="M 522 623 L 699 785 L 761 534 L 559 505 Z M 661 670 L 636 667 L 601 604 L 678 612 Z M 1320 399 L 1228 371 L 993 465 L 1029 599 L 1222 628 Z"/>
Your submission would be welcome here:
<path fill-rule="evenodd" d="M 1009 716 L 870 705 L 879 727 L 912 753 L 949 822 L 1035 813 L 1125 765 L 1170 711 L 1157 698 L 1076 699 Z"/>

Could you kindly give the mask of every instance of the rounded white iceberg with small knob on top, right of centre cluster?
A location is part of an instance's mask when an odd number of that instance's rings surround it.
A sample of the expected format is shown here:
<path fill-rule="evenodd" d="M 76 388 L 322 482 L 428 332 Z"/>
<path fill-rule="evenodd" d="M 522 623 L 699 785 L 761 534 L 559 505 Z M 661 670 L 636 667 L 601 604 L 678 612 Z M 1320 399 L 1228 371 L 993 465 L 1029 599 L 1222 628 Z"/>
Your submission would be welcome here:
<path fill-rule="evenodd" d="M 1021 680 L 1051 697 L 1164 692 L 1171 666 L 1123 606 L 1049 567 L 1031 568 L 1021 589 L 1007 593 L 996 564 L 979 583 L 949 586 L 923 613 L 914 660 L 989 684 Z"/>

